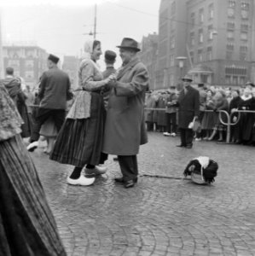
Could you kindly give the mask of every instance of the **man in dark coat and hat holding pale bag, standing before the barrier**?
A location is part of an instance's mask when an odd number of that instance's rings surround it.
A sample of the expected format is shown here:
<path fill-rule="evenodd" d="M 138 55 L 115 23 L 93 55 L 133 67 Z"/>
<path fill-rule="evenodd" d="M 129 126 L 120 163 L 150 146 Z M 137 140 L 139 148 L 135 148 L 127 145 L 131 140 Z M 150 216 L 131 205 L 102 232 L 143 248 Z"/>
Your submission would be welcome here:
<path fill-rule="evenodd" d="M 193 81 L 191 76 L 186 75 L 183 79 L 183 90 L 177 100 L 178 126 L 181 134 L 181 144 L 177 147 L 192 148 L 193 130 L 188 128 L 194 118 L 198 118 L 200 113 L 200 93 L 191 86 Z"/>

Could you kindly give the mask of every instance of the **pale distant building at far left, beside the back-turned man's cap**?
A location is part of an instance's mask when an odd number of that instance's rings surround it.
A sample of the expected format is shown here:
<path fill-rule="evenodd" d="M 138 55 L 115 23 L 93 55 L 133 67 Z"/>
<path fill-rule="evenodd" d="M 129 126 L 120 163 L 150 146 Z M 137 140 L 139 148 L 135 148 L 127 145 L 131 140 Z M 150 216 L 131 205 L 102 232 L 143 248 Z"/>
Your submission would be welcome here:
<path fill-rule="evenodd" d="M 3 45 L 3 67 L 14 67 L 14 75 L 35 86 L 47 69 L 46 51 L 38 46 Z"/>

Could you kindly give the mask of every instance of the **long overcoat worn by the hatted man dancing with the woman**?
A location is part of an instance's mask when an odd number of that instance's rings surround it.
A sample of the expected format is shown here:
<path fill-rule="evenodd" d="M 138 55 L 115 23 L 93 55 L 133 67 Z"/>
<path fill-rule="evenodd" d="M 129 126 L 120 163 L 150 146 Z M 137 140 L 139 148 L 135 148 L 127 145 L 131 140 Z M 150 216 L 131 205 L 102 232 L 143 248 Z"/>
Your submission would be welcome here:
<path fill-rule="evenodd" d="M 107 154 L 135 155 L 147 143 L 144 122 L 147 68 L 137 58 L 130 61 L 117 77 L 111 90 L 102 151 Z"/>

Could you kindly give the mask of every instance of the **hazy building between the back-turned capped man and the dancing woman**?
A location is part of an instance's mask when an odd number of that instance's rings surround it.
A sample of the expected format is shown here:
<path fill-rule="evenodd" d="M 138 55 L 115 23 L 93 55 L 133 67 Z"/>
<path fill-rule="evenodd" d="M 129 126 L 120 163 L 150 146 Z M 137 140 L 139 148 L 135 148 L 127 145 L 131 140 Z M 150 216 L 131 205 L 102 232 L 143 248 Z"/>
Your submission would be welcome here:
<path fill-rule="evenodd" d="M 64 56 L 64 61 L 62 65 L 63 71 L 67 72 L 71 80 L 72 88 L 78 86 L 78 66 L 80 59 L 75 56 Z"/>

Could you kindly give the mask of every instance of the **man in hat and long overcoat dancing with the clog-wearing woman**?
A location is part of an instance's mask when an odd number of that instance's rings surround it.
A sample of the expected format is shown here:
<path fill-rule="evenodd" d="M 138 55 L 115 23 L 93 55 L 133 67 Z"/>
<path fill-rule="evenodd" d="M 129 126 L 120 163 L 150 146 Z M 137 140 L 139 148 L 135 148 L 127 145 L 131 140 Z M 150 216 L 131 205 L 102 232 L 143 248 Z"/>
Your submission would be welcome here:
<path fill-rule="evenodd" d="M 144 122 L 148 71 L 136 56 L 140 49 L 134 39 L 124 38 L 118 47 L 123 65 L 111 84 L 102 151 L 118 155 L 123 177 L 115 181 L 130 188 L 137 182 L 136 154 L 140 145 L 148 142 Z"/>

